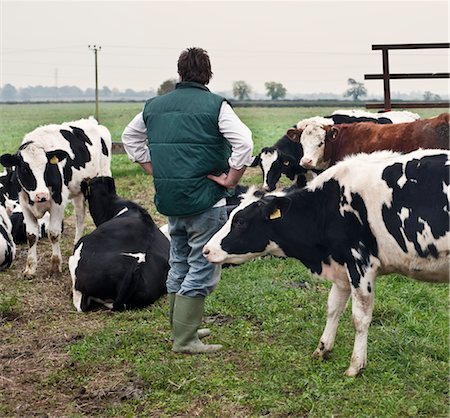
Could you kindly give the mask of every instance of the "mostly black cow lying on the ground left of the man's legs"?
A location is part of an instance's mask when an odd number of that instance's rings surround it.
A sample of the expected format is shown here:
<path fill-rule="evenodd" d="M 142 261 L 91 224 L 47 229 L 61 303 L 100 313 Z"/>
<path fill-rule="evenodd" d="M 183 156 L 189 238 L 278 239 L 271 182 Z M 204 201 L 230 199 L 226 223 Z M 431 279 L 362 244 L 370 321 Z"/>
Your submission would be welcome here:
<path fill-rule="evenodd" d="M 97 229 L 78 241 L 69 259 L 75 308 L 151 305 L 167 293 L 169 240 L 144 208 L 117 196 L 111 177 L 83 182 L 82 189 Z"/>

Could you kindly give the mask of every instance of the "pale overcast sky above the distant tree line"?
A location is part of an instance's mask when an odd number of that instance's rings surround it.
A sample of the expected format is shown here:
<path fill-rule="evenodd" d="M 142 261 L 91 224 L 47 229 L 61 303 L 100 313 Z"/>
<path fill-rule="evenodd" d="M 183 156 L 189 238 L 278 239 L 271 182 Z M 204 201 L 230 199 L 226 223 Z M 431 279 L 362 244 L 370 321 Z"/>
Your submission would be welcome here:
<path fill-rule="evenodd" d="M 372 44 L 448 42 L 447 1 L 18 1 L 0 0 L 0 84 L 157 89 L 176 78 L 182 49 L 211 57 L 213 91 L 244 80 L 255 91 L 343 93 L 349 77 L 383 93 Z M 449 72 L 449 50 L 391 53 L 391 72 Z M 448 94 L 448 80 L 397 80 L 393 92 Z"/>

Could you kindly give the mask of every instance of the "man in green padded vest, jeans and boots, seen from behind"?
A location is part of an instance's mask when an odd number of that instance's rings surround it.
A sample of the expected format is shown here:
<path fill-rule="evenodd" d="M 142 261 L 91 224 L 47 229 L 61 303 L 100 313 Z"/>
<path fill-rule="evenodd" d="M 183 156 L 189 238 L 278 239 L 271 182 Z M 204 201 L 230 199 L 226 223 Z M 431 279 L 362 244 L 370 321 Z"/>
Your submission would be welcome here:
<path fill-rule="evenodd" d="M 175 90 L 148 100 L 122 142 L 129 158 L 153 174 L 156 209 L 168 216 L 172 350 L 211 353 L 222 346 L 202 343 L 210 332 L 198 328 L 220 266 L 202 249 L 226 222 L 225 193 L 251 164 L 253 141 L 228 102 L 206 87 L 212 71 L 205 50 L 184 50 L 178 74 Z"/>

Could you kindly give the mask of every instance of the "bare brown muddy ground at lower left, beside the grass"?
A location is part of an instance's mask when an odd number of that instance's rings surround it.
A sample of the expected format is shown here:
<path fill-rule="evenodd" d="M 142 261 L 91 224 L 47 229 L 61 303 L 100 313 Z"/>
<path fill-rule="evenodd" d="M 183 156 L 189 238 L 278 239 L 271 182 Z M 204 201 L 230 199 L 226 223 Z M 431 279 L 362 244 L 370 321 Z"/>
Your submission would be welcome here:
<path fill-rule="evenodd" d="M 67 347 L 102 328 L 105 312 L 80 315 L 72 305 L 68 270 L 74 237 L 72 217 L 65 219 L 63 272 L 49 275 L 51 246 L 38 245 L 39 270 L 32 280 L 23 277 L 27 246 L 17 247 L 13 266 L 0 273 L 0 292 L 16 295 L 12 312 L 0 316 L 0 416 L 92 416 L 142 389 L 138 382 L 113 370 L 96 371 L 88 387 L 61 379 L 73 370 Z M 106 313 L 108 314 L 108 313 Z M 56 378 L 57 379 L 57 378 Z"/>

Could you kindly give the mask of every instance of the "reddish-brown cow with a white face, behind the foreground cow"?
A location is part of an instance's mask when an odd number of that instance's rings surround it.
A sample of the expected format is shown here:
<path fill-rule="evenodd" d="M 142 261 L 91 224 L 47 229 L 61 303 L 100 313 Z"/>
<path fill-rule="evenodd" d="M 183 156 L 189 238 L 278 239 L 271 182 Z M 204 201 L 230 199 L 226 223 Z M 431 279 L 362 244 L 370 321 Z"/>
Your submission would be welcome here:
<path fill-rule="evenodd" d="M 286 135 L 302 145 L 302 167 L 324 170 L 348 155 L 361 152 L 391 150 L 406 153 L 419 148 L 449 149 L 449 114 L 387 125 L 313 123 L 304 129 L 289 129 Z"/>

